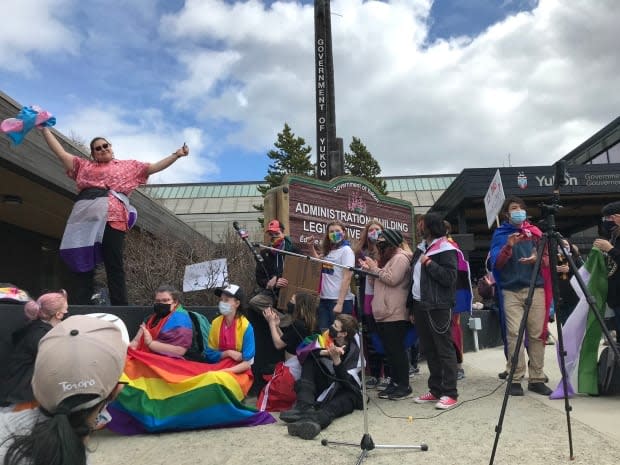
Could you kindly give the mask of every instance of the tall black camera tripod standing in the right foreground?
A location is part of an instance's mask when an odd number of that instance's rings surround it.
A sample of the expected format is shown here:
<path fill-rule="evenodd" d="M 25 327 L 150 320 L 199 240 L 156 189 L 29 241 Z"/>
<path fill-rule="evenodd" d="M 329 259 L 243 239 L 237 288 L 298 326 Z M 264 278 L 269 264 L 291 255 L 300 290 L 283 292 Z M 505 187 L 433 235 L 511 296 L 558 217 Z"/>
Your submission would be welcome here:
<path fill-rule="evenodd" d="M 512 380 L 513 380 L 514 372 L 516 370 L 518 360 L 519 360 L 519 348 L 521 347 L 521 344 L 523 343 L 525 328 L 526 328 L 530 308 L 532 306 L 532 299 L 534 296 L 534 291 L 536 289 L 536 280 L 537 280 L 537 277 L 540 276 L 543 255 L 545 254 L 546 251 L 548 252 L 548 256 L 549 256 L 549 268 L 551 270 L 551 287 L 552 287 L 552 293 L 553 293 L 553 301 L 556 304 L 556 313 L 559 310 L 558 302 L 559 302 L 560 292 L 559 292 L 558 274 L 556 272 L 557 264 L 558 264 L 558 261 L 557 261 L 558 254 L 556 251 L 558 250 L 558 244 L 560 240 L 564 238 L 558 231 L 556 231 L 555 214 L 561 208 L 561 206 L 559 205 L 559 187 L 562 184 L 563 180 L 565 179 L 565 176 L 566 176 L 566 173 L 565 173 L 564 167 L 560 164 L 556 165 L 555 185 L 554 185 L 554 192 L 553 192 L 553 196 L 551 199 L 551 203 L 540 205 L 543 217 L 545 218 L 541 224 L 544 233 L 536 248 L 536 253 L 537 253 L 536 262 L 534 264 L 534 268 L 532 269 L 532 275 L 530 278 L 528 293 L 525 299 L 523 317 L 521 318 L 521 323 L 519 325 L 519 331 L 518 331 L 517 340 L 515 344 L 515 350 L 510 357 L 510 372 L 508 373 L 508 376 L 506 378 L 506 391 L 504 392 L 504 399 L 502 402 L 502 408 L 501 408 L 500 415 L 499 415 L 499 422 L 497 426 L 495 427 L 496 434 L 495 434 L 495 441 L 493 443 L 493 451 L 491 453 L 491 459 L 489 462 L 490 465 L 493 465 L 494 463 L 495 453 L 496 453 L 497 445 L 499 442 L 499 437 L 502 432 L 502 424 L 503 424 L 504 416 L 506 413 L 506 407 L 508 405 L 508 397 L 510 395 L 510 388 L 511 388 Z M 620 354 L 618 353 L 618 347 L 612 341 L 611 334 L 609 333 L 609 330 L 607 329 L 607 326 L 605 325 L 605 322 L 603 318 L 601 317 L 599 311 L 596 309 L 596 301 L 594 297 L 592 296 L 592 294 L 588 291 L 588 288 L 585 282 L 583 281 L 583 278 L 579 274 L 577 265 L 575 264 L 572 255 L 569 254 L 564 249 L 564 247 L 560 247 L 559 250 L 561 250 L 564 258 L 568 262 L 570 269 L 573 275 L 575 276 L 575 279 L 579 283 L 579 287 L 581 291 L 583 292 L 589 304 L 590 311 L 592 311 L 593 314 L 595 315 L 599 325 L 601 326 L 602 332 L 605 335 L 605 339 L 609 342 L 609 347 L 611 348 L 611 350 L 614 351 L 616 355 L 616 360 L 618 360 L 618 358 L 620 358 Z M 559 362 L 560 362 L 560 372 L 562 374 L 562 390 L 564 394 L 563 395 L 564 410 L 566 412 L 569 457 L 571 460 L 573 460 L 574 451 L 573 451 L 573 438 L 572 438 L 571 419 L 570 419 L 570 412 L 572 410 L 572 407 L 570 406 L 570 403 L 568 400 L 568 395 L 569 395 L 568 394 L 568 380 L 567 380 L 566 363 L 565 363 L 566 352 L 564 348 L 564 337 L 563 337 L 562 325 L 560 324 L 561 319 L 559 318 L 559 315 L 556 318 L 556 321 L 558 322 L 557 323 L 558 355 L 559 355 Z"/>

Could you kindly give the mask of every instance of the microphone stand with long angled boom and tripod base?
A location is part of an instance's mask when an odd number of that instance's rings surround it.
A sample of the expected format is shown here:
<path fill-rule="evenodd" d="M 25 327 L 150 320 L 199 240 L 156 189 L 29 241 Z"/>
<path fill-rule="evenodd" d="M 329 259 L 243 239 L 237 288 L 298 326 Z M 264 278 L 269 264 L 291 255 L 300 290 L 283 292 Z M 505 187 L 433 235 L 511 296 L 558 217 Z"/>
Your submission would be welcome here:
<path fill-rule="evenodd" d="M 263 244 L 254 244 L 254 245 L 256 247 L 260 247 L 261 249 L 272 250 L 276 253 L 293 255 L 295 257 L 306 258 L 308 260 L 315 261 L 318 263 L 325 263 L 330 266 L 344 268 L 346 270 L 352 271 L 353 276 L 355 277 L 356 284 L 357 284 L 357 293 L 358 293 L 357 295 L 358 305 L 357 305 L 356 317 L 357 317 L 357 322 L 358 322 L 358 335 L 360 339 L 360 366 L 361 366 L 361 371 L 362 371 L 362 412 L 363 412 L 362 415 L 364 417 L 364 434 L 362 435 L 362 439 L 359 442 L 359 444 L 354 443 L 354 442 L 340 442 L 340 441 L 330 441 L 328 439 L 322 439 L 321 445 L 329 446 L 331 444 L 335 446 L 349 446 L 349 447 L 359 446 L 362 449 L 362 451 L 360 452 L 360 455 L 357 458 L 357 462 L 355 462 L 356 465 L 361 465 L 364 459 L 368 457 L 368 453 L 373 449 L 419 449 L 420 451 L 426 452 L 428 450 L 428 446 L 426 444 L 417 444 L 417 445 L 414 445 L 414 444 L 410 444 L 410 445 L 375 444 L 372 439 L 372 436 L 368 432 L 368 396 L 367 396 L 367 391 L 366 391 L 366 357 L 364 354 L 364 332 L 362 328 L 362 315 L 364 314 L 364 311 L 363 311 L 363 299 L 359 295 L 359 292 L 360 292 L 359 281 L 362 276 L 372 276 L 372 277 L 377 278 L 379 277 L 379 275 L 371 271 L 364 270 L 362 268 L 341 265 L 339 263 L 334 263 L 328 260 L 311 257 L 309 255 L 302 255 L 302 254 L 298 254 L 294 252 L 288 252 L 286 250 L 276 249 L 274 247 L 269 247 Z"/>

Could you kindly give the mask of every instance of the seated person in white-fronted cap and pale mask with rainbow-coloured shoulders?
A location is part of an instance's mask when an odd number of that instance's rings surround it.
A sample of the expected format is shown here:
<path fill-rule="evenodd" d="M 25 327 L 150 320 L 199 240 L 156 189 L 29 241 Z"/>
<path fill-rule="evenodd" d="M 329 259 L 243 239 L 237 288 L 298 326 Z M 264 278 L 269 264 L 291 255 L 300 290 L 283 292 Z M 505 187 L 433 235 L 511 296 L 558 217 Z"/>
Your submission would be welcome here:
<path fill-rule="evenodd" d="M 244 315 L 243 291 L 236 284 L 229 284 L 224 289 L 216 289 L 220 298 L 218 310 L 220 316 L 213 320 L 209 331 L 208 347 L 205 355 L 209 363 L 220 362 L 229 358 L 236 362 L 224 371 L 243 373 L 249 371 L 254 363 L 255 345 L 254 328 Z"/>

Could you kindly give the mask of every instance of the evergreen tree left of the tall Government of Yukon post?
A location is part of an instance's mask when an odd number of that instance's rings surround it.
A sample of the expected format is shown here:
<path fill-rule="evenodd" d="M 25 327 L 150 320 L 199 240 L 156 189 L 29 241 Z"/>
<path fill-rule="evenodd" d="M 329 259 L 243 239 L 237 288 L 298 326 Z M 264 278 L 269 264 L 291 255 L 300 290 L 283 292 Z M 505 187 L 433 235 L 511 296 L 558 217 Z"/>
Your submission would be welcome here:
<path fill-rule="evenodd" d="M 314 163 L 310 161 L 312 148 L 306 145 L 303 137 L 295 137 L 287 123 L 284 123 L 284 129 L 278 133 L 278 140 L 273 145 L 275 149 L 267 152 L 272 163 L 265 176 L 266 184 L 258 187 L 263 197 L 269 189 L 279 186 L 287 174 L 314 175 Z M 254 205 L 254 208 L 263 211 L 263 205 Z"/>

